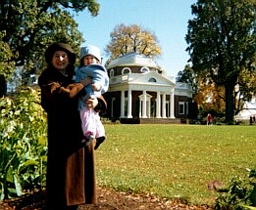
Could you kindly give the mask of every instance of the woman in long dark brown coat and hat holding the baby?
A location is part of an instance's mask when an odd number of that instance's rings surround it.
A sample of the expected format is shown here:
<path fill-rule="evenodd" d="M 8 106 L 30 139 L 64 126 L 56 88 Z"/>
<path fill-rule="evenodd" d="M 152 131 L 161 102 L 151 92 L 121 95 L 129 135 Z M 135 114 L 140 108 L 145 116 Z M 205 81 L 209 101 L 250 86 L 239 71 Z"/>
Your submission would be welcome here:
<path fill-rule="evenodd" d="M 70 45 L 55 43 L 45 51 L 47 68 L 38 78 L 41 105 L 47 112 L 47 210 L 75 210 L 79 204 L 97 203 L 93 142 L 84 146 L 78 97 L 88 80 L 75 83 L 76 54 Z M 76 87 L 71 97 L 63 89 Z M 87 105 L 105 109 L 102 97 Z"/>

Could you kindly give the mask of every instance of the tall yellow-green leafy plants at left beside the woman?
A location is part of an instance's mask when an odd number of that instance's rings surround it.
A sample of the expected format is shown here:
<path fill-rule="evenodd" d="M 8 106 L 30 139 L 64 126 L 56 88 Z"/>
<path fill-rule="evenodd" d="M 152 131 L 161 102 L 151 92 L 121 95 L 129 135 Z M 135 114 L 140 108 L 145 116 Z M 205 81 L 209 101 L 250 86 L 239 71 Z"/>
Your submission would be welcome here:
<path fill-rule="evenodd" d="M 39 97 L 26 88 L 0 99 L 0 200 L 45 185 L 46 117 Z"/>

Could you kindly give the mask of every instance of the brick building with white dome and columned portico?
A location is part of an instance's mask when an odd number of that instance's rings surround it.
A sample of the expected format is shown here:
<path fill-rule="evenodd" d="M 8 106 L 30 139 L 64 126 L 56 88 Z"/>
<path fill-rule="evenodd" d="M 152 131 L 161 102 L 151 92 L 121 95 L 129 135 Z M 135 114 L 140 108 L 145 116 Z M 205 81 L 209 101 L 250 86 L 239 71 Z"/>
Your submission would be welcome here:
<path fill-rule="evenodd" d="M 109 90 L 107 117 L 123 123 L 180 122 L 187 118 L 192 89 L 162 75 L 151 58 L 129 53 L 107 66 Z"/>

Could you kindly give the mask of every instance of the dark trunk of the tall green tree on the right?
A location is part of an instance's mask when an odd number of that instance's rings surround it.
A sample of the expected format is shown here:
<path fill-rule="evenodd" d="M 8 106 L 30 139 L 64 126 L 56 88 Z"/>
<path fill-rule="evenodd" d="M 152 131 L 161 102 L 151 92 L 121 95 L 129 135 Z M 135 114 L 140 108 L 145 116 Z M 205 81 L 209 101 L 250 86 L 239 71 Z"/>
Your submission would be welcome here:
<path fill-rule="evenodd" d="M 233 110 L 234 110 L 234 96 L 233 96 L 234 83 L 228 81 L 225 84 L 225 95 L 226 95 L 226 122 L 233 124 Z"/>

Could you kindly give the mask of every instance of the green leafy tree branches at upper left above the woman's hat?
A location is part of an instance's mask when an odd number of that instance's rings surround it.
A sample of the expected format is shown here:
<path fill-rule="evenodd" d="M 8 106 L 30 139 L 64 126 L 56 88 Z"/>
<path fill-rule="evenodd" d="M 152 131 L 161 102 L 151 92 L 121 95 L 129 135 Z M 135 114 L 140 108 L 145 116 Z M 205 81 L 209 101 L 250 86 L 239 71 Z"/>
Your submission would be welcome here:
<path fill-rule="evenodd" d="M 97 16 L 99 4 L 96 0 L 1 0 L 0 47 L 9 53 L 8 58 L 0 54 L 0 63 L 9 67 L 0 68 L 0 74 L 7 79 L 20 65 L 29 72 L 41 70 L 45 48 L 55 41 L 68 42 L 77 50 L 82 36 L 71 11 L 85 8 Z"/>

